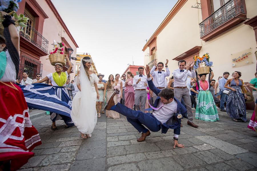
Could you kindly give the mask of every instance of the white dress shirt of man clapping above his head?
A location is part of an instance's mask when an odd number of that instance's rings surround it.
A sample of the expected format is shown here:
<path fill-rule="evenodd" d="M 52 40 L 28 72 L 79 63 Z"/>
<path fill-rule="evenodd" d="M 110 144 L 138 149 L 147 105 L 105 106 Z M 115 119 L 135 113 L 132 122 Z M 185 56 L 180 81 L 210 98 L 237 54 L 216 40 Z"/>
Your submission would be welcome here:
<path fill-rule="evenodd" d="M 161 73 L 158 73 L 159 71 L 154 71 L 156 66 L 154 65 L 150 71 L 150 74 L 153 77 L 153 83 L 156 87 L 165 87 L 165 77 L 170 76 L 169 68 L 166 68 L 166 71 L 161 71 Z"/>

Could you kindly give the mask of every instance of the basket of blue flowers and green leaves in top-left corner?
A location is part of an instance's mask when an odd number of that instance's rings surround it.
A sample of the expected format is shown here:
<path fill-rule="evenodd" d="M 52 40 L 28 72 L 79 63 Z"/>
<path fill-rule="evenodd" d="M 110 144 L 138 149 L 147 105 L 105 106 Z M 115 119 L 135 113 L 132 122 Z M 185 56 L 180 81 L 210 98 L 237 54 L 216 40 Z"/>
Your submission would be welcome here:
<path fill-rule="evenodd" d="M 4 11 L 9 15 L 13 16 L 13 20 L 15 21 L 15 27 L 17 28 L 17 31 L 23 31 L 20 30 L 20 28 L 27 27 L 26 23 L 28 22 L 29 18 L 25 17 L 24 14 L 17 15 L 17 13 L 15 12 L 19 9 L 19 2 L 21 2 L 21 0 L 1 0 L 0 11 Z M 0 35 L 3 35 L 3 20 L 4 18 L 0 13 Z"/>

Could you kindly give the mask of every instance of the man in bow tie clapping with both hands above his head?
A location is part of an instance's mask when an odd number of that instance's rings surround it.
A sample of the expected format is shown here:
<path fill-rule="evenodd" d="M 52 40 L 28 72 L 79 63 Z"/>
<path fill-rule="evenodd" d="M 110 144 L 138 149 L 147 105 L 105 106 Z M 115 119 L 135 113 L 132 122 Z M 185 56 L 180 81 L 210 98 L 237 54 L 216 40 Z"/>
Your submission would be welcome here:
<path fill-rule="evenodd" d="M 153 77 L 153 83 L 154 86 L 156 86 L 158 89 L 162 90 L 163 88 L 165 88 L 165 77 L 170 76 L 170 71 L 168 68 L 168 59 L 166 59 L 166 63 L 165 63 L 165 67 L 166 67 L 166 72 L 162 71 L 163 69 L 163 63 L 159 62 L 158 64 L 156 63 L 156 61 L 154 61 L 154 66 L 152 67 L 150 74 Z M 157 66 L 157 71 L 155 71 L 155 68 Z M 152 93 L 153 95 L 153 101 L 155 102 L 157 95 L 155 93 Z"/>

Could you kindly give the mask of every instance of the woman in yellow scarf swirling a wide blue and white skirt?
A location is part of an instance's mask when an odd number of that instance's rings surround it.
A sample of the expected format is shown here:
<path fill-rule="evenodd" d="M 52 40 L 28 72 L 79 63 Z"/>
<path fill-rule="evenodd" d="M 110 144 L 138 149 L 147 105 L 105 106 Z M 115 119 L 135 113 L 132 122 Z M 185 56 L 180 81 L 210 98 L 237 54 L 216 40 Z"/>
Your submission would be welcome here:
<path fill-rule="evenodd" d="M 66 81 L 71 73 L 72 64 L 66 55 L 66 60 L 69 64 L 69 69 L 63 72 L 63 65 L 61 63 L 55 63 L 55 73 L 50 73 L 44 79 L 35 82 L 32 85 L 23 87 L 23 92 L 26 98 L 28 106 L 50 111 L 50 117 L 53 121 L 51 126 L 52 130 L 57 130 L 55 125 L 56 120 L 64 120 L 65 128 L 73 126 L 71 120 L 71 98 L 69 96 L 68 88 L 66 88 Z M 43 83 L 51 80 L 53 86 Z M 35 94 L 37 94 L 35 96 Z M 62 102 L 60 102 L 62 101 Z"/>

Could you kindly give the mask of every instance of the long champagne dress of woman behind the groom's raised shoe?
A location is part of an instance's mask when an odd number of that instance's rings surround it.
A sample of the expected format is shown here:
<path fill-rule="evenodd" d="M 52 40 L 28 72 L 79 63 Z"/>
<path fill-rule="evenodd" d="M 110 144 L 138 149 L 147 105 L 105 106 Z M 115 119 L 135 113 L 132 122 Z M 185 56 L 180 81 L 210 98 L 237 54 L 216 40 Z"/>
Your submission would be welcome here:
<path fill-rule="evenodd" d="M 107 87 L 107 96 L 106 96 L 106 101 L 107 102 L 109 102 L 109 100 L 110 100 L 110 98 L 111 98 L 111 96 L 114 92 L 114 87 L 115 87 L 115 83 L 113 83 L 112 88 Z M 119 94 L 116 94 L 116 96 L 113 97 L 113 100 L 114 100 L 115 104 L 117 104 L 118 102 L 121 101 L 121 99 L 120 99 L 120 101 L 117 100 L 118 99 L 117 95 L 119 95 Z M 106 114 L 107 118 L 113 118 L 113 119 L 119 119 L 120 118 L 120 114 L 118 112 L 115 112 L 114 110 L 106 110 L 105 114 Z"/>

